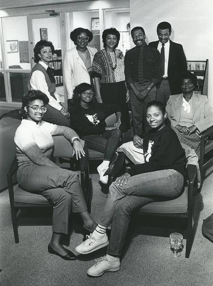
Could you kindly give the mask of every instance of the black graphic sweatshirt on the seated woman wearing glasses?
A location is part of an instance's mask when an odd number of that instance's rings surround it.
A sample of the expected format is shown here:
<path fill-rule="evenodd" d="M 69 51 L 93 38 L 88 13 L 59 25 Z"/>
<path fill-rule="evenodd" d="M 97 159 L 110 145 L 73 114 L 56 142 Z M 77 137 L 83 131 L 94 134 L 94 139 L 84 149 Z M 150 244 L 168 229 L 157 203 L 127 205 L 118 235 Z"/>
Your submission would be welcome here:
<path fill-rule="evenodd" d="M 116 112 L 121 112 L 119 105 L 92 103 L 89 108 L 76 105 L 70 114 L 71 123 L 80 138 L 87 135 L 102 134 L 106 131 L 105 119 Z"/>

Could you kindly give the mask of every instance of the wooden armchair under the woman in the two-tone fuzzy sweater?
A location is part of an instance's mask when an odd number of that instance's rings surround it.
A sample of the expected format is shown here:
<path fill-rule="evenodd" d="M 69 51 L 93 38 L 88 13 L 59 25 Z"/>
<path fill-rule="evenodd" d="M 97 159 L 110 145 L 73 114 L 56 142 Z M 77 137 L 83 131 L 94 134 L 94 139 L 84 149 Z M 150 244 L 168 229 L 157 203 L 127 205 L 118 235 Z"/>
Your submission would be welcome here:
<path fill-rule="evenodd" d="M 72 160 L 76 159 L 73 157 L 73 148 L 71 143 L 64 138 L 63 136 L 54 136 L 55 148 L 53 151 L 53 157 L 66 156 Z M 84 144 L 84 141 L 81 140 L 81 143 Z M 91 202 L 90 202 L 90 189 L 89 189 L 89 169 L 88 169 L 88 149 L 87 146 L 84 145 L 85 157 L 81 157 L 81 187 L 84 192 L 85 201 L 88 207 L 88 211 L 91 210 Z M 17 221 L 17 212 L 20 208 L 28 208 L 28 207 L 51 207 L 46 198 L 41 196 L 40 194 L 33 194 L 27 192 L 17 186 L 14 189 L 14 182 L 16 182 L 16 171 L 18 169 L 18 162 L 16 157 L 14 158 L 11 167 L 7 173 L 7 182 L 8 182 L 8 190 L 9 190 L 9 200 L 11 207 L 11 215 L 12 215 L 12 224 L 14 231 L 15 243 L 19 243 L 18 236 L 18 221 Z M 38 178 L 39 179 L 39 178 Z"/>

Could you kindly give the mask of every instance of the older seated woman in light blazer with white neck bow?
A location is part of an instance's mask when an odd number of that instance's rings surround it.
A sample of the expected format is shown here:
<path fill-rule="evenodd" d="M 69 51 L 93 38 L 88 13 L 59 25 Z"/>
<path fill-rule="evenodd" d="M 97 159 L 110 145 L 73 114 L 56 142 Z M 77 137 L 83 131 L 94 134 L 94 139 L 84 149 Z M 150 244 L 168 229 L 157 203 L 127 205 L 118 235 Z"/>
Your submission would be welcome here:
<path fill-rule="evenodd" d="M 193 91 L 196 84 L 197 77 L 194 74 L 189 71 L 182 72 L 182 93 L 170 96 L 166 111 L 180 142 L 195 149 L 200 158 L 199 135 L 213 125 L 213 110 L 206 95 Z"/>

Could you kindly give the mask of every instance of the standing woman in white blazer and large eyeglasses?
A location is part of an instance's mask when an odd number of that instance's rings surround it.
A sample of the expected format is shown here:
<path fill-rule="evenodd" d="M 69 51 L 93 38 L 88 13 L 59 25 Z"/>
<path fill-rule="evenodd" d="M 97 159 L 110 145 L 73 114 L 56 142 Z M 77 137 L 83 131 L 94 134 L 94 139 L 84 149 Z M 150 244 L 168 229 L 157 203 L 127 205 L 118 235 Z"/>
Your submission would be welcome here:
<path fill-rule="evenodd" d="M 73 107 L 73 90 L 81 82 L 92 85 L 95 92 L 92 73 L 92 60 L 97 49 L 88 47 L 93 34 L 88 29 L 76 28 L 70 33 L 70 38 L 75 47 L 64 53 L 63 80 L 68 96 L 68 111 Z M 95 94 L 94 94 L 95 99 Z"/>

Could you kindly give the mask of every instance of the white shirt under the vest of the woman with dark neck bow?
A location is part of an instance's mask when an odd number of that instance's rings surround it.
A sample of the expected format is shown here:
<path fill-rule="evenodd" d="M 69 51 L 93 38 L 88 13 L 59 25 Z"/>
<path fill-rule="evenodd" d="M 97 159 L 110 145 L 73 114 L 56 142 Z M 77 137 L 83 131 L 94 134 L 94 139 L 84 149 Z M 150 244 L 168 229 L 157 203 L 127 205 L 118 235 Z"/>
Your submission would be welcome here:
<path fill-rule="evenodd" d="M 47 70 L 48 65 L 46 65 L 43 61 L 39 61 L 39 63 Z M 33 74 L 30 79 L 30 85 L 31 85 L 31 89 L 41 90 L 43 93 L 47 95 L 47 97 L 49 98 L 49 105 L 51 105 L 52 107 L 58 110 L 62 109 L 62 106 L 59 104 L 59 102 L 61 102 L 60 96 L 58 95 L 56 91 L 54 92 L 54 96 L 56 97 L 56 100 L 50 95 L 50 92 L 48 91 L 47 82 L 45 80 L 45 76 L 42 71 L 38 71 L 38 70 L 33 71 Z"/>

